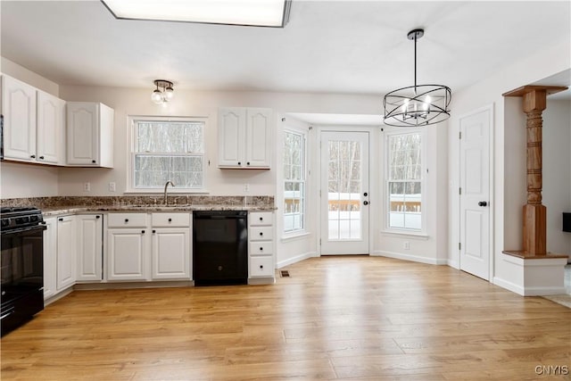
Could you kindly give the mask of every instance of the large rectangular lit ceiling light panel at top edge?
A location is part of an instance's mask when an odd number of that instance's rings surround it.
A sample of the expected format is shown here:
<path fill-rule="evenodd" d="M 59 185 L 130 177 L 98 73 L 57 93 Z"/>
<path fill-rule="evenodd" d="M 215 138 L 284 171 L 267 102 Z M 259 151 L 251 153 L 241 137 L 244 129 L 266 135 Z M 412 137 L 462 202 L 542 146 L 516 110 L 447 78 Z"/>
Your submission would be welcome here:
<path fill-rule="evenodd" d="M 117 19 L 283 28 L 291 0 L 102 0 Z"/>

